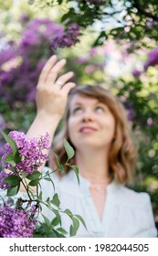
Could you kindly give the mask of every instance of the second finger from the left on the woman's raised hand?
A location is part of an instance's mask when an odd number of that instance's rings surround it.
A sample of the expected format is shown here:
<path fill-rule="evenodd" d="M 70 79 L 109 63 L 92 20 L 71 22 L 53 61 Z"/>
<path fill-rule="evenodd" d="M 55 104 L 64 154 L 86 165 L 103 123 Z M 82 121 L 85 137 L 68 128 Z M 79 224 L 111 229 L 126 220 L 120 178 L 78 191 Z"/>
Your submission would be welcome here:
<path fill-rule="evenodd" d="M 49 85 L 49 82 L 51 82 L 51 84 L 55 83 L 58 78 L 59 71 L 61 71 L 61 69 L 65 66 L 66 62 L 66 59 L 59 60 L 57 64 L 49 71 L 47 74 L 47 85 Z"/>

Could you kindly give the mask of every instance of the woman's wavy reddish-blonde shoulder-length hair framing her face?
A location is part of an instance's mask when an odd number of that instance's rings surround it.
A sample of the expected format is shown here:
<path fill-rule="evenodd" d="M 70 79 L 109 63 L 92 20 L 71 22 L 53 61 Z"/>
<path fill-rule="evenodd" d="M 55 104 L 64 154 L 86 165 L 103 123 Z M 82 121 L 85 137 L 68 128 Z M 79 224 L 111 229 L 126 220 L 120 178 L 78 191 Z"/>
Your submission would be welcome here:
<path fill-rule="evenodd" d="M 110 175 L 118 184 L 129 184 L 132 181 L 133 169 L 136 164 L 137 150 L 132 142 L 130 123 L 127 120 L 127 114 L 124 107 L 116 96 L 111 95 L 110 91 L 105 90 L 100 85 L 84 85 L 73 88 L 68 94 L 68 104 L 63 117 L 62 129 L 56 134 L 52 145 L 52 151 L 49 155 L 49 165 L 55 167 L 53 152 L 55 152 L 60 162 L 64 164 L 67 161 L 67 155 L 64 149 L 64 138 L 73 146 L 68 137 L 68 118 L 69 102 L 74 95 L 79 94 L 105 103 L 115 118 L 115 139 L 111 143 L 109 154 Z M 75 147 L 73 146 L 75 149 Z M 75 158 L 70 160 L 75 165 Z M 68 166 L 65 168 L 68 173 Z"/>

